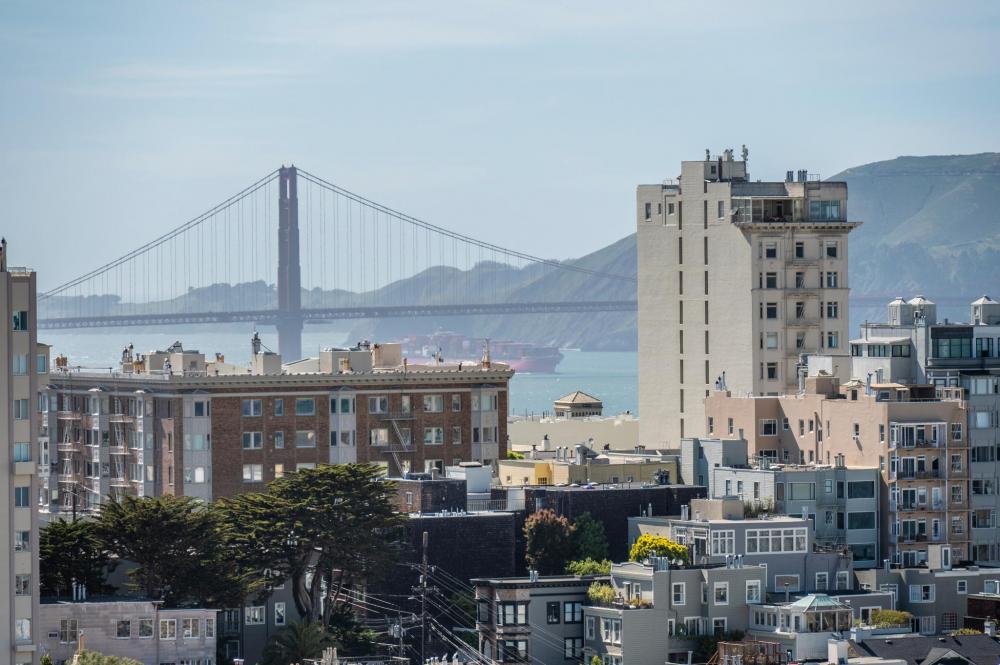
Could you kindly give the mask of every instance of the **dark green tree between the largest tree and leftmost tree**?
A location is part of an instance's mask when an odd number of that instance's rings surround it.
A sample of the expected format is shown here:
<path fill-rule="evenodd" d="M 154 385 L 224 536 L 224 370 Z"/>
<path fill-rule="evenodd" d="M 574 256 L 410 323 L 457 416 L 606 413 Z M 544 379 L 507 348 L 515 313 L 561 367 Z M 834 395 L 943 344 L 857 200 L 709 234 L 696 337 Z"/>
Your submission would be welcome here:
<path fill-rule="evenodd" d="M 165 607 L 238 607 L 245 596 L 218 512 L 191 497 L 123 497 L 101 505 L 97 537 L 137 564 L 129 586 Z"/>

